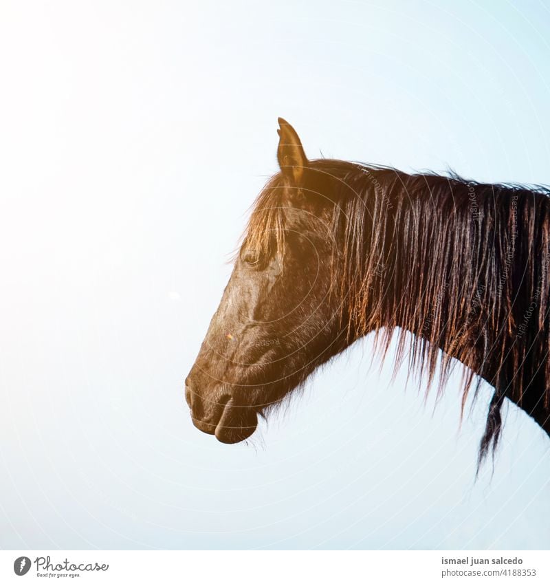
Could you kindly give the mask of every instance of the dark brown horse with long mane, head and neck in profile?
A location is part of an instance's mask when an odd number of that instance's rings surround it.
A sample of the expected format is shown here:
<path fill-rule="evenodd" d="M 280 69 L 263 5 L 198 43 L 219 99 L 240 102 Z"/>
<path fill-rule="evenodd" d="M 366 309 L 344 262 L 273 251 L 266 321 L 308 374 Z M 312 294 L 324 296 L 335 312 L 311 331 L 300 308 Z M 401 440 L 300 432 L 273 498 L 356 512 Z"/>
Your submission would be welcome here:
<path fill-rule="evenodd" d="M 550 188 L 308 160 L 278 118 L 279 171 L 252 207 L 185 381 L 192 423 L 233 444 L 355 340 L 443 391 L 492 386 L 481 464 L 511 400 L 550 435 Z"/>

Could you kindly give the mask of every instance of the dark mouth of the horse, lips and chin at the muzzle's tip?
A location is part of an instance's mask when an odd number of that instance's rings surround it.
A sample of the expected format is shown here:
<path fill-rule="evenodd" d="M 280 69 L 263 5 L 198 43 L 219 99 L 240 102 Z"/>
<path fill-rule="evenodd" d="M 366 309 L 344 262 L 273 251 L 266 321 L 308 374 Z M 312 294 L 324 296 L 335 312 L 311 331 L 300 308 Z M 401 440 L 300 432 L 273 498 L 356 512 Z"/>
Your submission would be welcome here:
<path fill-rule="evenodd" d="M 219 442 L 235 444 L 249 438 L 258 426 L 258 416 L 250 408 L 236 406 L 231 396 L 220 398 L 206 420 L 192 415 L 195 428 L 213 434 Z"/>

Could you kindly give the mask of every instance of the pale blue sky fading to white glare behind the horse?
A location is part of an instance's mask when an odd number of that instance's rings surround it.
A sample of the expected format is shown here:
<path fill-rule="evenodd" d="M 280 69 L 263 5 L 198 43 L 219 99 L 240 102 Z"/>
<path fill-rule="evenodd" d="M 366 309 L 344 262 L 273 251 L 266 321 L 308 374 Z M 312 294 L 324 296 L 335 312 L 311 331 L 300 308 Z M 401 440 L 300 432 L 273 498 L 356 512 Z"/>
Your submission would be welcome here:
<path fill-rule="evenodd" d="M 369 339 L 248 444 L 184 378 L 267 177 L 310 158 L 550 182 L 541 1 L 3 0 L 0 548 L 548 549 L 550 441 L 459 424 Z"/>

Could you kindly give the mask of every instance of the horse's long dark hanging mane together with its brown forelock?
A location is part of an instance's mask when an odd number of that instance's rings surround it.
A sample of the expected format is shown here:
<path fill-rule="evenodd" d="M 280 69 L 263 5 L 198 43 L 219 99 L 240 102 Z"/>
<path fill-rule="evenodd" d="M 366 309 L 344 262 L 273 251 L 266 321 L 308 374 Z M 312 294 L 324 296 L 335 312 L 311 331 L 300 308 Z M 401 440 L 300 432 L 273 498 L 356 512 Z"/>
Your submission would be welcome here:
<path fill-rule="evenodd" d="M 344 274 L 334 293 L 350 341 L 374 332 L 384 360 L 397 332 L 394 373 L 406 360 L 428 392 L 439 365 L 438 396 L 460 360 L 462 412 L 472 382 L 475 393 L 483 378 L 493 385 L 481 464 L 498 444 L 504 398 L 521 404 L 533 376 L 550 378 L 550 189 L 340 160 L 310 165 L 334 191 L 329 223 L 340 243 L 331 265 Z M 275 175 L 260 193 L 247 247 L 284 249 L 283 191 Z M 541 399 L 548 408 L 547 385 Z"/>

